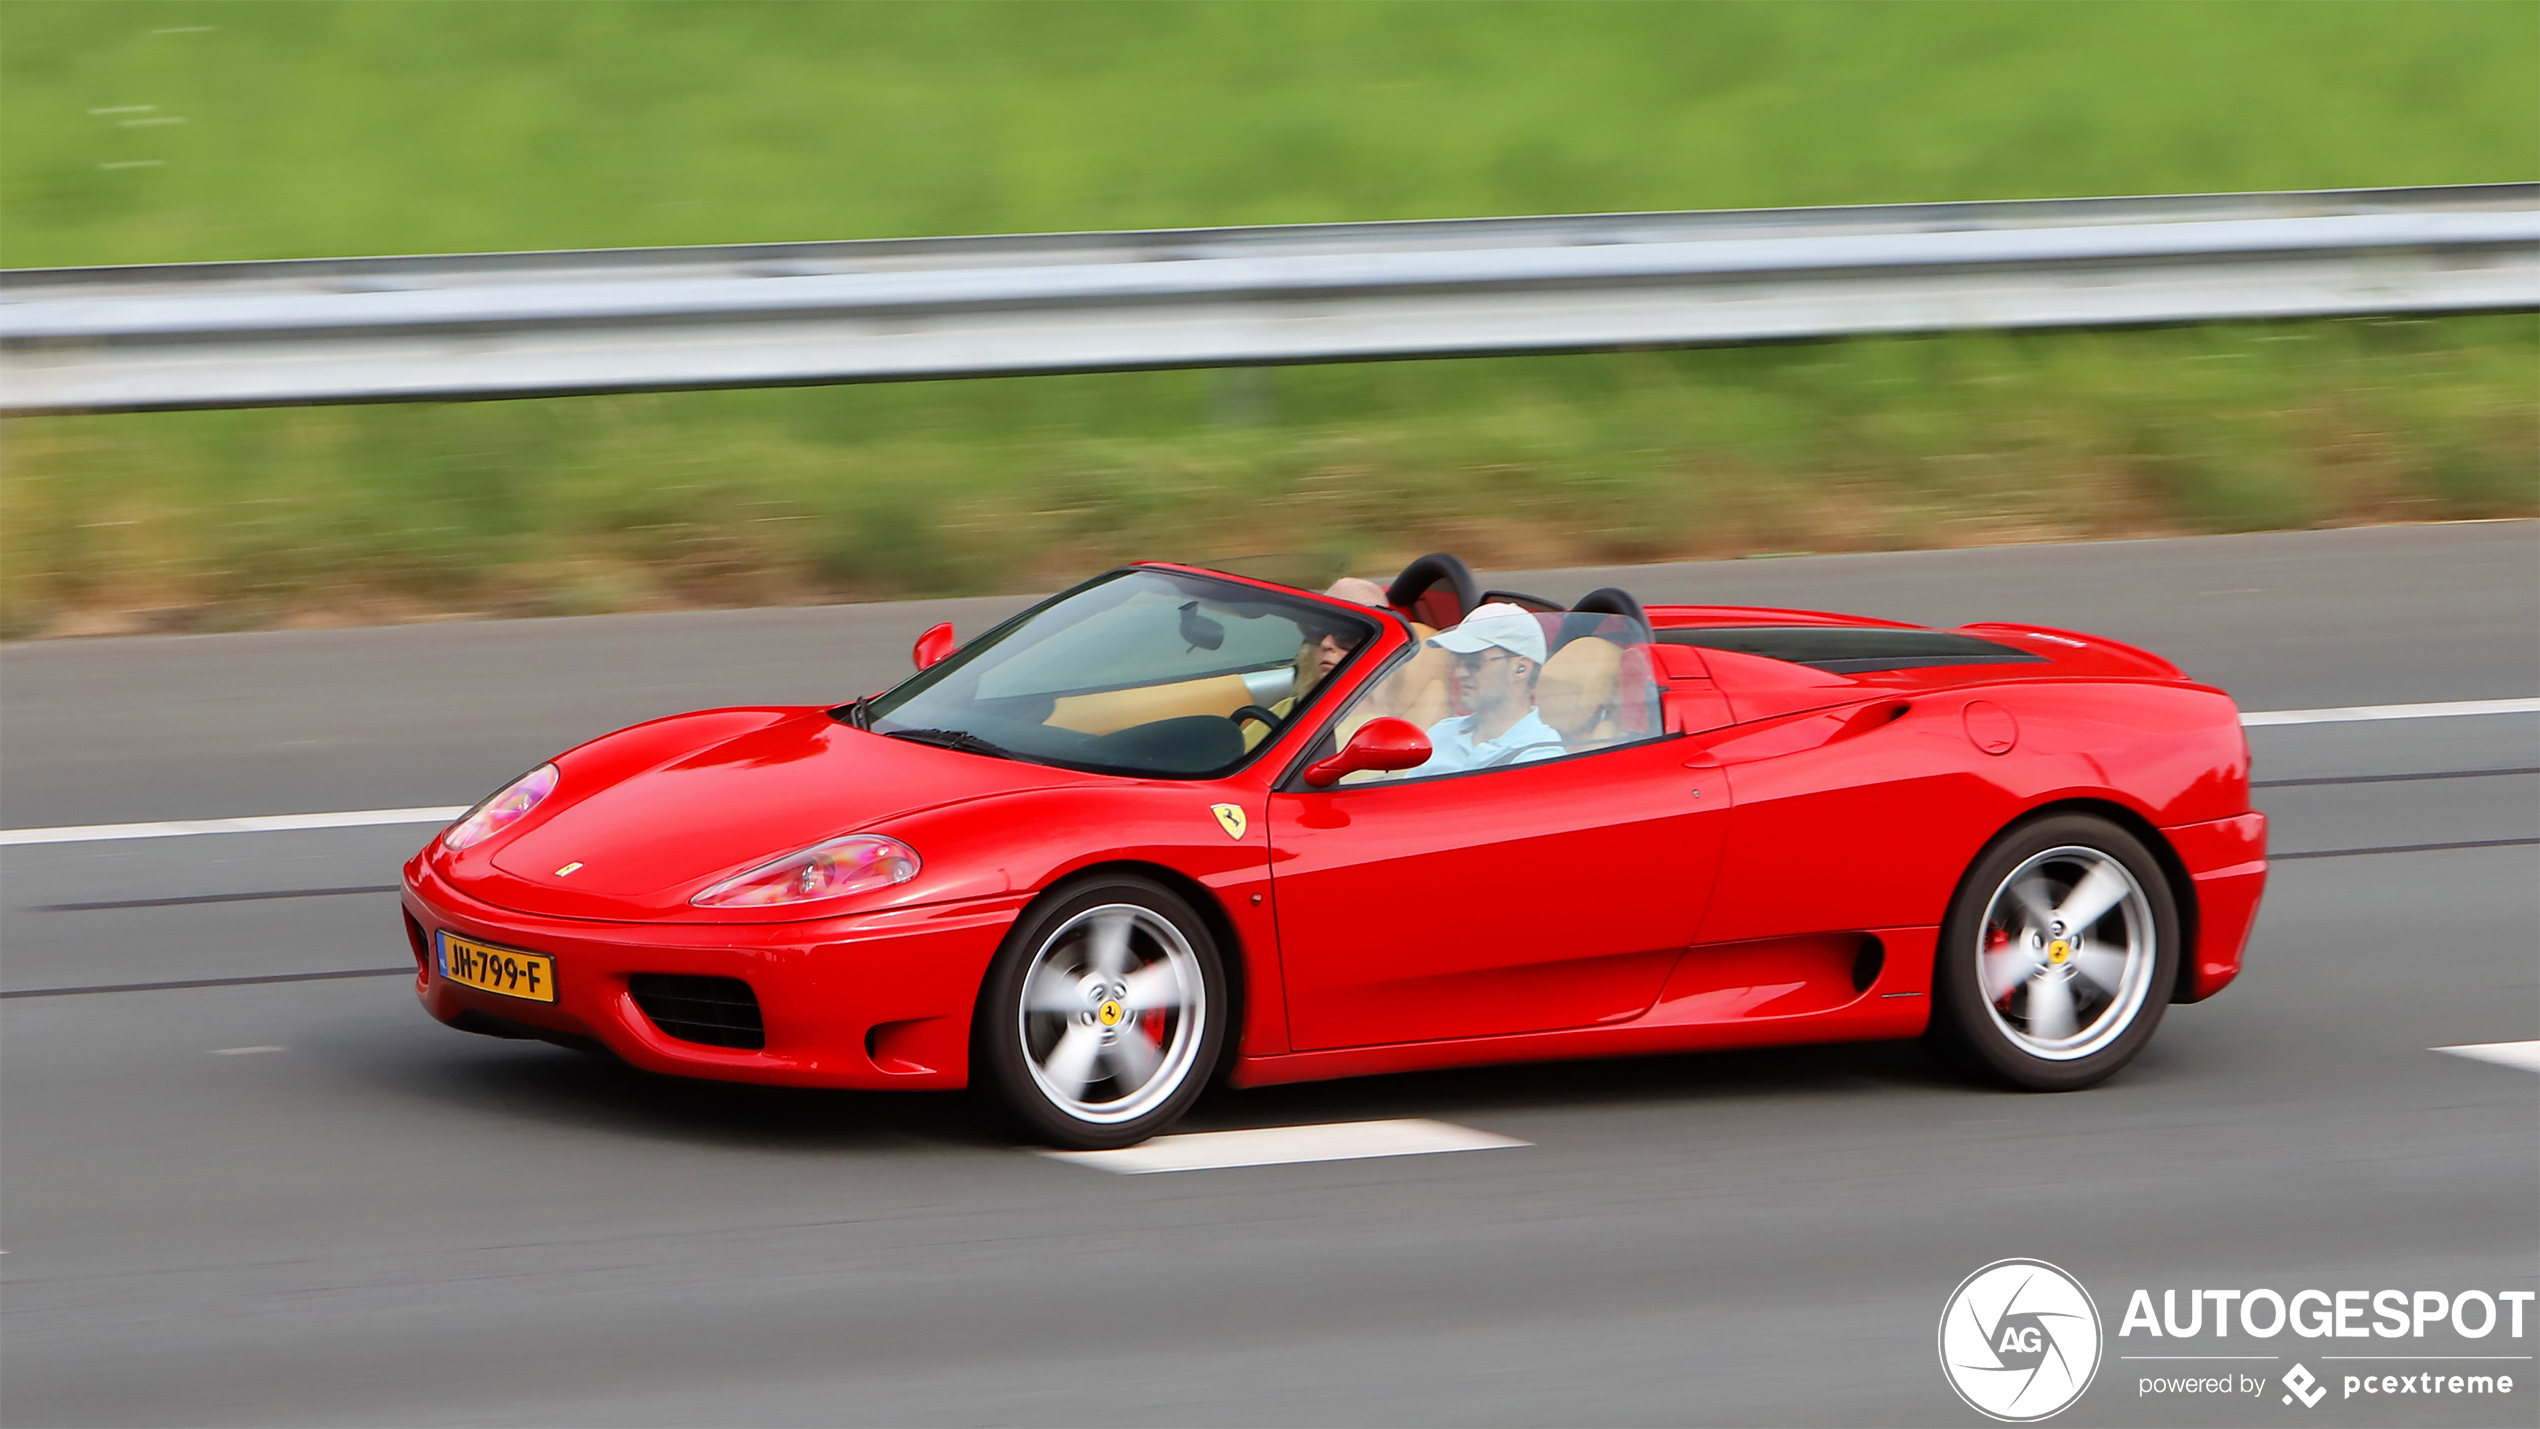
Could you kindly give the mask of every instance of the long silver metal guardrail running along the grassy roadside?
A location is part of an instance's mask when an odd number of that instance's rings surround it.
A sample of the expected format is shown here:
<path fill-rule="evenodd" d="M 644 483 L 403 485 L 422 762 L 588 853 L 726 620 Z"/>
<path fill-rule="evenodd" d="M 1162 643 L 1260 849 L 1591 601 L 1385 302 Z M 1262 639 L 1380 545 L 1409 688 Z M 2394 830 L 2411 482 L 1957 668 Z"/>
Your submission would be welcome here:
<path fill-rule="evenodd" d="M 2540 185 L 0 272 L 0 414 L 2540 307 Z"/>

